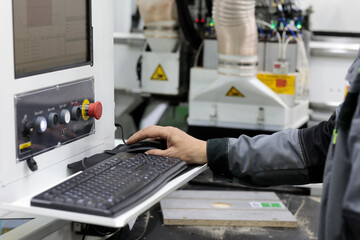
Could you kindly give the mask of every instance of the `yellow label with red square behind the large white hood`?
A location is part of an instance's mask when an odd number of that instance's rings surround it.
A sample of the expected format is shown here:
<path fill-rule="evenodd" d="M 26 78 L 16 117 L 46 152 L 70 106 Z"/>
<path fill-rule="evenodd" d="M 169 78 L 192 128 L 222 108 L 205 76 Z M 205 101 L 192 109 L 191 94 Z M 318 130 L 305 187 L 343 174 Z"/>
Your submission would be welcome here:
<path fill-rule="evenodd" d="M 273 73 L 259 73 L 257 78 L 275 93 L 294 95 L 295 79 L 294 75 L 281 75 Z"/>

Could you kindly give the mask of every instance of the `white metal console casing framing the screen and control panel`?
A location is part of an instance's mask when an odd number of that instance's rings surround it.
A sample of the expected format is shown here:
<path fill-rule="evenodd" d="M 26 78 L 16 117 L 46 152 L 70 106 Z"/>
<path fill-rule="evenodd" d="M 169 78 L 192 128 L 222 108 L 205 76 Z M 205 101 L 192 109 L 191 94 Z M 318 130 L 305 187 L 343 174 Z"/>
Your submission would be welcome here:
<path fill-rule="evenodd" d="M 11 202 L 67 176 L 66 165 L 111 148 L 114 142 L 113 19 L 112 1 L 92 1 L 94 66 L 76 67 L 14 79 L 12 1 L 2 2 L 0 21 L 0 202 Z M 103 104 L 96 132 L 88 137 L 34 157 L 39 170 L 16 163 L 14 95 L 93 76 L 95 99 Z M 109 127 L 110 126 L 110 127 Z"/>

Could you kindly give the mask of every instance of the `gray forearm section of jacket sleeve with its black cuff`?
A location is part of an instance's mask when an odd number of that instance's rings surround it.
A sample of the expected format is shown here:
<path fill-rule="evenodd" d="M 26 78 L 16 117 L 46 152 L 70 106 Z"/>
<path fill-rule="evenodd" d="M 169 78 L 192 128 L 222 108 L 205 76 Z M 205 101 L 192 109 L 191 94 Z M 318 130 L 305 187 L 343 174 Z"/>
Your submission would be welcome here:
<path fill-rule="evenodd" d="M 209 140 L 207 153 L 209 166 L 215 174 L 235 177 L 245 184 L 270 186 L 309 182 L 298 130 L 253 138 L 242 135 L 238 139 Z"/>

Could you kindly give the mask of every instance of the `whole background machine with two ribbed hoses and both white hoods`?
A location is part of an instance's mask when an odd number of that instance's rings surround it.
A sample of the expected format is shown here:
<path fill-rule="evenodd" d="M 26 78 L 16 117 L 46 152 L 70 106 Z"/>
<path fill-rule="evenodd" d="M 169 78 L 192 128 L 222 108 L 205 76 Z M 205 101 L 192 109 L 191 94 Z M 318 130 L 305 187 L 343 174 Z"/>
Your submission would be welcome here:
<path fill-rule="evenodd" d="M 141 91 L 187 101 L 192 135 L 201 137 L 196 127 L 274 132 L 307 123 L 306 21 L 294 1 L 137 3 L 146 38 Z"/>

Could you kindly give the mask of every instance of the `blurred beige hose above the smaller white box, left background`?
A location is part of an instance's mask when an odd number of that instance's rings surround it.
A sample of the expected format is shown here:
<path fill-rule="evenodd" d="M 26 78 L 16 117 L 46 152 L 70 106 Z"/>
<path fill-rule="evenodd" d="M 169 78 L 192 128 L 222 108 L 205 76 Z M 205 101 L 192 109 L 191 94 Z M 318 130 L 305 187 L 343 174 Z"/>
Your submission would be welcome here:
<path fill-rule="evenodd" d="M 137 5 L 151 50 L 171 52 L 179 38 L 175 0 L 137 0 Z"/>

